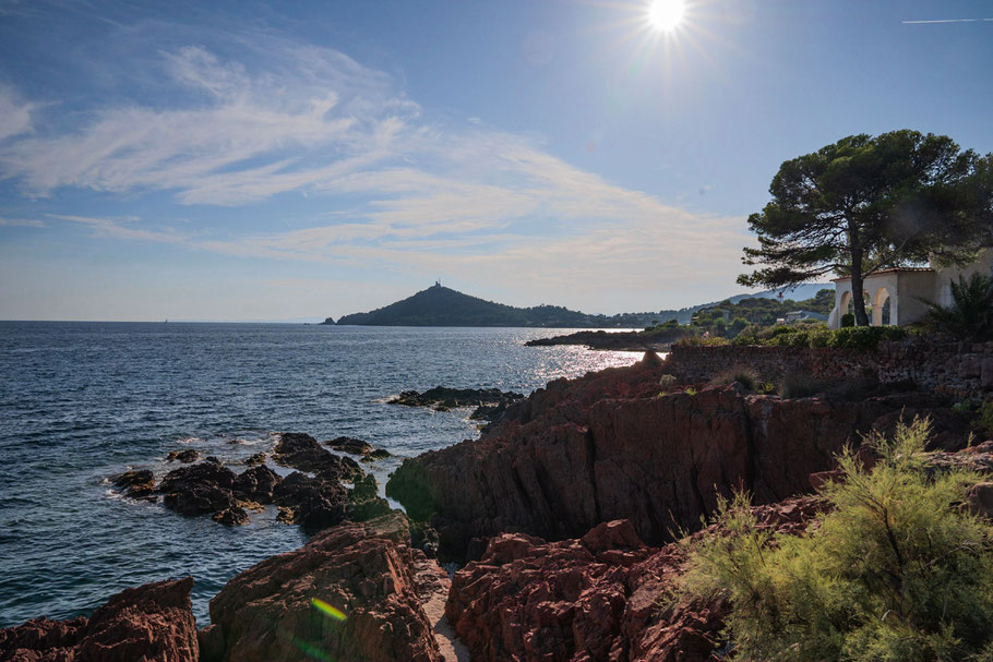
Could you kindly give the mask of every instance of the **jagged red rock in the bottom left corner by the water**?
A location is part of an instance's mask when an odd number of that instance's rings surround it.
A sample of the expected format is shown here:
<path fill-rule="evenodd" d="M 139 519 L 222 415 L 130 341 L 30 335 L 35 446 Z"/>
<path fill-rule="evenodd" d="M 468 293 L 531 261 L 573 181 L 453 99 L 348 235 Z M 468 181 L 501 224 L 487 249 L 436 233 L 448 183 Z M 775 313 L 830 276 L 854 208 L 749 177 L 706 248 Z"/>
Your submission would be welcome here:
<path fill-rule="evenodd" d="M 198 662 L 193 578 L 127 589 L 87 619 L 38 618 L 0 630 L 0 660 Z"/>

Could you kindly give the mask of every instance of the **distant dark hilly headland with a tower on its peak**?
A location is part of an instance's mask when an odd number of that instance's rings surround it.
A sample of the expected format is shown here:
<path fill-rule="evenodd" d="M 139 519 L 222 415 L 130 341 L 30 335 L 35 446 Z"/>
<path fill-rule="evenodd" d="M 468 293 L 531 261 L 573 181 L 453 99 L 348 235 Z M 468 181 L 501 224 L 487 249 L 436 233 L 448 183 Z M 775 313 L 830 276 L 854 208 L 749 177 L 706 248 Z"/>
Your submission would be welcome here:
<path fill-rule="evenodd" d="M 818 285 L 799 286 L 819 288 Z M 727 301 L 737 302 L 747 297 L 774 298 L 776 291 L 755 294 L 738 294 Z M 691 316 L 699 309 L 714 305 L 704 303 L 679 310 L 658 312 L 620 313 L 617 315 L 593 315 L 571 311 L 561 305 L 535 305 L 515 308 L 503 303 L 487 301 L 478 297 L 464 294 L 435 282 L 403 301 L 391 303 L 368 313 L 352 313 L 340 317 L 335 323 L 333 317 L 322 322 L 325 325 L 339 326 L 524 326 L 545 328 L 645 328 L 669 320 L 689 324 Z M 643 340 L 642 338 L 636 339 Z M 641 345 L 639 345 L 641 346 Z"/>

